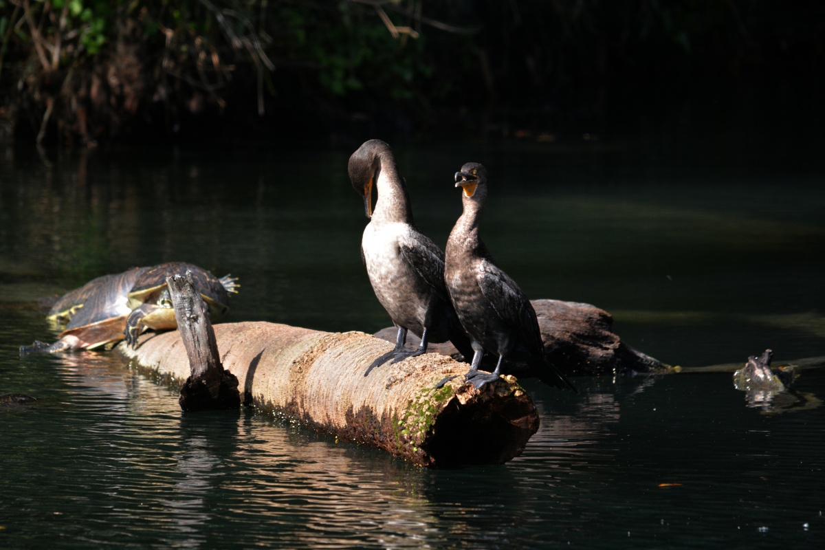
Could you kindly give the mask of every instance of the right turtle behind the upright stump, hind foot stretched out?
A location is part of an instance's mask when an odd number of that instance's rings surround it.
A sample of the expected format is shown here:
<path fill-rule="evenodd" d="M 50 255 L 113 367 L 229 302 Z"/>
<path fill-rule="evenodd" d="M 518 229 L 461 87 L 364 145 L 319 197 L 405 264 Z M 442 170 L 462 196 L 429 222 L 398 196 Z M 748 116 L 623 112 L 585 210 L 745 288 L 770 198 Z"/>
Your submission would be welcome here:
<path fill-rule="evenodd" d="M 192 280 L 209 308 L 210 319 L 218 322 L 229 313 L 229 293 L 238 292 L 237 279 L 225 275 L 218 279 L 210 271 L 182 261 L 174 261 L 148 268 L 134 282 L 129 293 L 129 307 L 132 310 L 126 318 L 125 338 L 129 346 L 135 347 L 143 327 L 154 330 L 177 328 L 172 296 L 166 283 L 171 275 L 191 272 Z M 142 327 L 143 326 L 143 327 Z"/>

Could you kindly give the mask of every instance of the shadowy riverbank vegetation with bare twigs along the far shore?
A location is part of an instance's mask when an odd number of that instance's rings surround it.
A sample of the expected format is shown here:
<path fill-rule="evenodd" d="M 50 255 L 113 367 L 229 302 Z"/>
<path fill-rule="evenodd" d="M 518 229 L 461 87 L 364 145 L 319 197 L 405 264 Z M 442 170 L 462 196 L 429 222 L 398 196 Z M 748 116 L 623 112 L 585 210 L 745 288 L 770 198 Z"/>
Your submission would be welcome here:
<path fill-rule="evenodd" d="M 815 0 L 0 0 L 0 14 L 0 140 L 601 130 L 695 98 L 822 119 Z"/>

